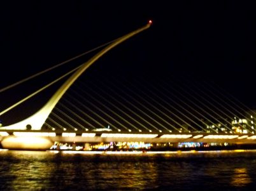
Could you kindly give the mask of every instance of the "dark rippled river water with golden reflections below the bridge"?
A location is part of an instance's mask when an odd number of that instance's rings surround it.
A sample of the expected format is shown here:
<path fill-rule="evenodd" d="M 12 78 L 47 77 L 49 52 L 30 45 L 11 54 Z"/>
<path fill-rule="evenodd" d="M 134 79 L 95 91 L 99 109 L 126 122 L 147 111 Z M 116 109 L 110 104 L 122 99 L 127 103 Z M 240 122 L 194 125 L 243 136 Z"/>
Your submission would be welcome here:
<path fill-rule="evenodd" d="M 0 190 L 253 190 L 256 150 L 0 152 Z"/>

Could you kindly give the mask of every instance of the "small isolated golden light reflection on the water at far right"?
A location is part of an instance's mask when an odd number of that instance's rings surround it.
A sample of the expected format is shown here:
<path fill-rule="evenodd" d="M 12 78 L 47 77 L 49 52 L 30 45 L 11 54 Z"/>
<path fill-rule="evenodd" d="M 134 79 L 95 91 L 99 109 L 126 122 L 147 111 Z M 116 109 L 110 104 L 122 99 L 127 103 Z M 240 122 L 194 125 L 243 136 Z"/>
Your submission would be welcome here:
<path fill-rule="evenodd" d="M 234 175 L 232 176 L 231 185 L 234 187 L 245 187 L 248 183 L 251 183 L 252 179 L 247 173 L 246 168 L 234 169 Z"/>

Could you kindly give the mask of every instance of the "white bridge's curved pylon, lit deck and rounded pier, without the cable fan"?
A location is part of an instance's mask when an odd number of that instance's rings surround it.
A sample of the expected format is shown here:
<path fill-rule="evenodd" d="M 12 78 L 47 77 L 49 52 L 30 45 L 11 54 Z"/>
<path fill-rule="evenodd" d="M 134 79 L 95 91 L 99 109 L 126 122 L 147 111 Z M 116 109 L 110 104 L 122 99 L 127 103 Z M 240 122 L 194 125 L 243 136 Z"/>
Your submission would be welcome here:
<path fill-rule="evenodd" d="M 60 98 L 66 93 L 73 82 L 80 77 L 85 70 L 87 70 L 92 63 L 96 62 L 101 56 L 110 51 L 118 44 L 124 42 L 130 37 L 146 30 L 150 27 L 151 22 L 145 26 L 134 30 L 125 36 L 118 38 L 113 43 L 106 46 L 95 56 L 90 58 L 89 61 L 83 63 L 78 67 L 73 75 L 68 78 L 62 86 L 55 92 L 55 94 L 48 100 L 48 102 L 35 114 L 23 121 L 11 124 L 10 126 L 3 126 L 0 128 L 0 141 L 4 148 L 21 148 L 21 149 L 43 149 L 50 148 L 53 142 L 149 142 L 149 143 L 161 143 L 161 142 L 227 142 L 227 143 L 256 143 L 256 135 L 254 131 L 248 133 L 234 132 L 232 129 L 229 132 L 219 133 L 206 133 L 206 132 L 178 132 L 172 133 L 168 130 L 168 133 L 163 132 L 161 129 L 157 131 L 149 130 L 147 133 L 141 131 L 134 133 L 129 131 L 127 133 L 121 133 L 118 129 L 117 132 L 112 132 L 110 129 L 104 128 L 102 131 L 45 131 L 42 130 L 42 126 L 45 123 L 47 117 L 52 112 L 55 105 L 59 102 Z M 12 109 L 11 107 L 10 109 Z M 4 114 L 10 109 L 6 109 L 0 113 Z"/>

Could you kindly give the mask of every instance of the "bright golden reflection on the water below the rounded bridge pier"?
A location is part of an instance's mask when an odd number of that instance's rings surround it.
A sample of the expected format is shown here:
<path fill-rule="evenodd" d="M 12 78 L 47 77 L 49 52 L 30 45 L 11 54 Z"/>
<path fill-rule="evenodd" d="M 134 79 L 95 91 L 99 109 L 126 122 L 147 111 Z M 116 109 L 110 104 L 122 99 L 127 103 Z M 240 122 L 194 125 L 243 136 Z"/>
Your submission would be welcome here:
<path fill-rule="evenodd" d="M 3 157 L 1 155 L 1 157 Z M 1 178 L 6 182 L 1 188 L 6 190 L 41 190 L 48 187 L 48 177 L 54 166 L 43 162 L 45 152 L 8 152 L 8 161 L 1 162 Z M 2 158 L 3 159 L 3 158 Z M 3 181 L 3 179 L 2 179 Z M 22 183 L 22 184 L 21 184 Z"/>

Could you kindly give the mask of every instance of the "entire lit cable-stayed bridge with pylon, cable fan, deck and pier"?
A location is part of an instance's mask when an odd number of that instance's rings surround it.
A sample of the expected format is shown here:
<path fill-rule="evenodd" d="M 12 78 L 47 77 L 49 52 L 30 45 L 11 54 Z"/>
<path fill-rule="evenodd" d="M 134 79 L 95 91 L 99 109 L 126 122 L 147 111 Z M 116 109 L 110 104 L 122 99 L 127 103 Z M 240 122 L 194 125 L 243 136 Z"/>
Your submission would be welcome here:
<path fill-rule="evenodd" d="M 256 143 L 255 112 L 232 95 L 225 95 L 227 92 L 214 84 L 190 81 L 184 84 L 153 77 L 142 81 L 131 77 L 127 80 L 124 76 L 80 81 L 92 63 L 150 25 L 151 22 L 93 49 L 103 48 L 87 62 L 0 112 L 0 117 L 8 114 L 32 96 L 68 77 L 38 112 L 15 124 L 1 126 L 1 145 L 4 148 L 47 149 L 53 142 Z M 87 53 L 11 84 L 0 92 Z"/>

